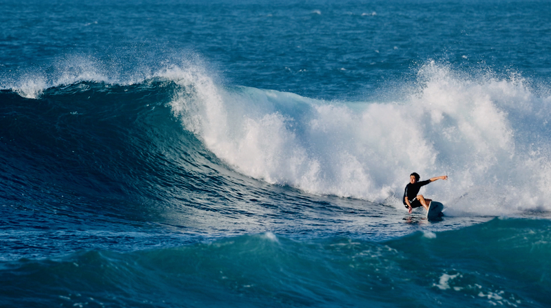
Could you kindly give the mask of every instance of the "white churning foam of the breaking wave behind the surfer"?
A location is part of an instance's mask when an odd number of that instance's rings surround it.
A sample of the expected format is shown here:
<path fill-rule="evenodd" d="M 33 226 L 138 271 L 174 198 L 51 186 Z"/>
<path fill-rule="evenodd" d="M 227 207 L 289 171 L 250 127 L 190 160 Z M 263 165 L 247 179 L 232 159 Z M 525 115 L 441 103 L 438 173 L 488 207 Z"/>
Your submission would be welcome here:
<path fill-rule="evenodd" d="M 551 99 L 521 78 L 428 63 L 404 101 L 346 103 L 225 89 L 200 69 L 171 74 L 181 85 L 171 106 L 185 128 L 245 175 L 401 207 L 409 173 L 448 174 L 424 188 L 447 214 L 550 209 Z"/>

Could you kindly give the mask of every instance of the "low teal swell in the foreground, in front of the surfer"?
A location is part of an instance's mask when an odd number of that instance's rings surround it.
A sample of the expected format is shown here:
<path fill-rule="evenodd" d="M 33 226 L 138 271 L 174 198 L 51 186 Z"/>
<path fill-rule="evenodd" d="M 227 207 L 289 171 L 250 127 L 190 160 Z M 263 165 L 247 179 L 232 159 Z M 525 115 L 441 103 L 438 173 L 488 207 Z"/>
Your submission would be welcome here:
<path fill-rule="evenodd" d="M 0 303 L 548 307 L 550 240 L 547 220 L 494 219 L 382 243 L 265 233 L 125 254 L 87 251 L 4 264 Z"/>

